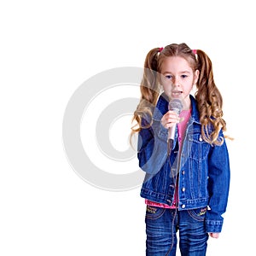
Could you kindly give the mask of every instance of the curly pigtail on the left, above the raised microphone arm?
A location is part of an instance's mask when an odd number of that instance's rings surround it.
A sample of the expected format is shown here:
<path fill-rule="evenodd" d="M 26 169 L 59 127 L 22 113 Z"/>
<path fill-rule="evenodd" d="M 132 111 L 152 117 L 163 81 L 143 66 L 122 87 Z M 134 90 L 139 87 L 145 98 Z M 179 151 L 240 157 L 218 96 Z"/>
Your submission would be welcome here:
<path fill-rule="evenodd" d="M 160 95 L 160 85 L 158 82 L 158 55 L 160 48 L 151 49 L 144 62 L 143 79 L 140 84 L 141 99 L 137 106 L 132 121 L 137 124 L 131 128 L 131 135 L 147 128 L 152 123 L 152 111 Z M 142 120 L 146 122 L 142 122 Z"/>

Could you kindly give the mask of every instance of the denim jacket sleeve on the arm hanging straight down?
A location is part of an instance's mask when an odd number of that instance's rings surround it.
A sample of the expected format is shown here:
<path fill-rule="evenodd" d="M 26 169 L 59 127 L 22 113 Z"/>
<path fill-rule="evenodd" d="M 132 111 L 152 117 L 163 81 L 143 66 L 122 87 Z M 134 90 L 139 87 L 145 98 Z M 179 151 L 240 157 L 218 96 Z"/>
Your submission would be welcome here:
<path fill-rule="evenodd" d="M 208 193 L 210 196 L 206 216 L 207 232 L 222 230 L 222 214 L 226 211 L 230 189 L 230 160 L 226 143 L 210 149 L 208 169 Z"/>

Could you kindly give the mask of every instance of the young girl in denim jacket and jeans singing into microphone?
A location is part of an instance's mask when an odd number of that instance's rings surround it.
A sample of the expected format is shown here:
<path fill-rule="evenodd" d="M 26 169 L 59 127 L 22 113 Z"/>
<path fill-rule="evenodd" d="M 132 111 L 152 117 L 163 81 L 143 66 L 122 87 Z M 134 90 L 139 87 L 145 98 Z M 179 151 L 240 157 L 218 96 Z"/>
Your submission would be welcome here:
<path fill-rule="evenodd" d="M 180 114 L 170 109 L 173 100 L 182 103 Z M 186 256 L 206 255 L 208 235 L 218 238 L 230 187 L 222 104 L 205 52 L 186 44 L 148 52 L 132 131 L 139 132 L 137 155 L 146 172 L 146 255 L 176 255 L 177 230 Z"/>

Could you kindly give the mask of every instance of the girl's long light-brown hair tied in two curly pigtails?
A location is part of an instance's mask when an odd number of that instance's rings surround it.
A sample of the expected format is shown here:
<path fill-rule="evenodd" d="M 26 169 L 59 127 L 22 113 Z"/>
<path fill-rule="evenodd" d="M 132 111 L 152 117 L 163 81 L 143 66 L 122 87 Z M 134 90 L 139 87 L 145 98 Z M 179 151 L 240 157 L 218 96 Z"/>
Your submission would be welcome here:
<path fill-rule="evenodd" d="M 158 73 L 163 60 L 170 56 L 183 57 L 194 72 L 197 69 L 200 71 L 195 99 L 200 113 L 201 135 L 207 143 L 221 145 L 224 140 L 219 138 L 218 134 L 221 130 L 226 131 L 226 123 L 223 119 L 223 98 L 213 79 L 212 61 L 201 49 L 197 49 L 195 55 L 195 50 L 190 49 L 187 44 L 170 44 L 148 52 L 140 84 L 141 98 L 132 119 L 137 125 L 131 128 L 131 136 L 152 123 L 151 120 L 145 126 L 142 120 L 146 116 L 152 118 L 153 109 L 160 96 Z"/>

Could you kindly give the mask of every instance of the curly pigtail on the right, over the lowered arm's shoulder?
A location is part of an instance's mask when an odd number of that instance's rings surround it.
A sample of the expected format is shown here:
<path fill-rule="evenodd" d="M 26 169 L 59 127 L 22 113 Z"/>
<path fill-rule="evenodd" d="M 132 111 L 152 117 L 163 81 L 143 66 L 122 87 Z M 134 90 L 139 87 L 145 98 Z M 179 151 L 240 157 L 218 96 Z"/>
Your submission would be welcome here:
<path fill-rule="evenodd" d="M 205 52 L 196 51 L 200 76 L 197 82 L 195 99 L 200 112 L 201 134 L 207 143 L 221 145 L 223 138 L 218 137 L 220 130 L 226 131 L 223 117 L 223 98 L 214 83 L 212 61 Z"/>

